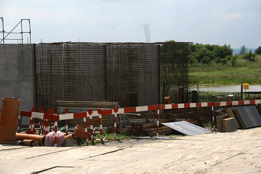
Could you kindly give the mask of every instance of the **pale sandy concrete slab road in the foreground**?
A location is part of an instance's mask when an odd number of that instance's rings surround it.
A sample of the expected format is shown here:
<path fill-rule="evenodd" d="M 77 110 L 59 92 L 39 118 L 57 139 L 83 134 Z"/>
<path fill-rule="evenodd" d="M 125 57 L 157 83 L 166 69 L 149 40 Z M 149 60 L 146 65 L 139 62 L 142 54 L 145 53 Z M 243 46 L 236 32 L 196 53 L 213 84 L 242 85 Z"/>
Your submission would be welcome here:
<path fill-rule="evenodd" d="M 142 141 L 142 140 L 140 140 Z M 0 173 L 261 173 L 261 128 L 132 148 L 0 145 Z"/>

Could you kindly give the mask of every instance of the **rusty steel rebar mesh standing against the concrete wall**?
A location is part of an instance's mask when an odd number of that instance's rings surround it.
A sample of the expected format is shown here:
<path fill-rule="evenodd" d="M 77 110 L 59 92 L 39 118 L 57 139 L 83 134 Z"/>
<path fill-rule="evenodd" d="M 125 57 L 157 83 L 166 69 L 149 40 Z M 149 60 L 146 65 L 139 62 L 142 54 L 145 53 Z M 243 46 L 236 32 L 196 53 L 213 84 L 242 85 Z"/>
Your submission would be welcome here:
<path fill-rule="evenodd" d="M 111 101 L 121 107 L 188 101 L 189 42 L 41 43 L 35 47 L 37 106 L 56 100 Z"/>

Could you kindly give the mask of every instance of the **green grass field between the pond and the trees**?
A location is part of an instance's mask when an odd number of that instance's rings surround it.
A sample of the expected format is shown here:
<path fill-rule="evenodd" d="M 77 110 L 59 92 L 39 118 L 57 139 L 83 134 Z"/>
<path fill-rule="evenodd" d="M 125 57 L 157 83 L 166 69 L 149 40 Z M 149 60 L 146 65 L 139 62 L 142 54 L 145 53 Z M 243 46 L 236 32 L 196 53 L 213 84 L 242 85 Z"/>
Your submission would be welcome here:
<path fill-rule="evenodd" d="M 261 84 L 261 55 L 256 61 L 248 61 L 238 56 L 236 66 L 230 62 L 223 64 L 199 64 L 191 67 L 193 84 Z"/>

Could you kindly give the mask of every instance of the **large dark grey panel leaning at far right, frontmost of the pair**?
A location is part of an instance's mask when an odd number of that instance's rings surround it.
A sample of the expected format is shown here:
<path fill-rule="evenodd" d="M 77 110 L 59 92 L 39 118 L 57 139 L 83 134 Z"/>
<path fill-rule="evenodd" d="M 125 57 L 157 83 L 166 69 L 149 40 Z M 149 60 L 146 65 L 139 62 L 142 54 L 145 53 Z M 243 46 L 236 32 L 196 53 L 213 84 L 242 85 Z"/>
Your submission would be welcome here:
<path fill-rule="evenodd" d="M 261 117 L 255 106 L 244 106 L 234 109 L 244 129 L 261 126 Z"/>

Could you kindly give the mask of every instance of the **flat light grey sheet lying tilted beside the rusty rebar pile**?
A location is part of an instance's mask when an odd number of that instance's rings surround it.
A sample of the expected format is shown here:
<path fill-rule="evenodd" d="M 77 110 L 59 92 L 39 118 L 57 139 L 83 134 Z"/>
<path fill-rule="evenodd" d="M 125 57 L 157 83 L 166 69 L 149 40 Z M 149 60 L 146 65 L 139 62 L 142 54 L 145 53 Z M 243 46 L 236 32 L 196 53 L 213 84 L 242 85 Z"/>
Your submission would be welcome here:
<path fill-rule="evenodd" d="M 162 123 L 162 124 L 186 135 L 201 135 L 206 133 L 212 133 L 212 131 L 209 131 L 208 129 L 202 128 L 200 126 L 196 126 L 195 124 L 191 124 L 186 121 Z"/>

